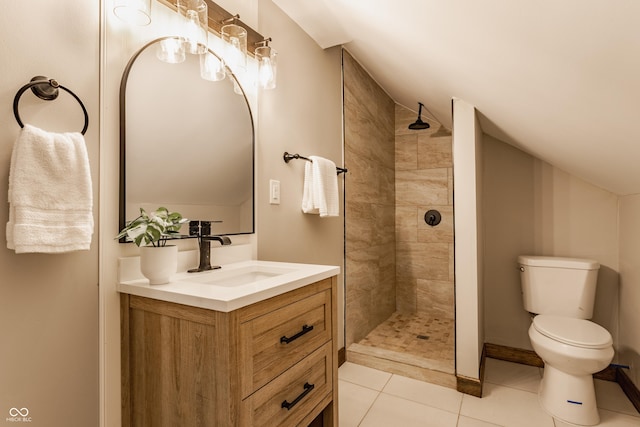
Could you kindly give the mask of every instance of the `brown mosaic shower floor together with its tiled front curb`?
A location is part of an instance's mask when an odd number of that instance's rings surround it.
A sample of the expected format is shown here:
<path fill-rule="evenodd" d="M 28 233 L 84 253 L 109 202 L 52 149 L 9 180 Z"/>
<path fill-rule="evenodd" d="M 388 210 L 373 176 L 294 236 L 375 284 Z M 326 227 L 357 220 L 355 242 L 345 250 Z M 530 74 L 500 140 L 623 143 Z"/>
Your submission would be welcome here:
<path fill-rule="evenodd" d="M 351 344 L 347 360 L 455 387 L 454 330 L 453 319 L 396 312 Z"/>

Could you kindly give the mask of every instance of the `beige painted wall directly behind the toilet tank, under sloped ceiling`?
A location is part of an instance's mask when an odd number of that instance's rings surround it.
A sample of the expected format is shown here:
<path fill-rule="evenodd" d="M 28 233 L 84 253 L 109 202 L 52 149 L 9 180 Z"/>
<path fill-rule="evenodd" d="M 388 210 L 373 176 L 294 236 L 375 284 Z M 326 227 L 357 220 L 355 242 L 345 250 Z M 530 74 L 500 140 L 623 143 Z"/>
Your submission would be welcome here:
<path fill-rule="evenodd" d="M 484 136 L 486 341 L 531 348 L 516 258 L 600 262 L 593 320 L 618 330 L 618 197 Z"/>

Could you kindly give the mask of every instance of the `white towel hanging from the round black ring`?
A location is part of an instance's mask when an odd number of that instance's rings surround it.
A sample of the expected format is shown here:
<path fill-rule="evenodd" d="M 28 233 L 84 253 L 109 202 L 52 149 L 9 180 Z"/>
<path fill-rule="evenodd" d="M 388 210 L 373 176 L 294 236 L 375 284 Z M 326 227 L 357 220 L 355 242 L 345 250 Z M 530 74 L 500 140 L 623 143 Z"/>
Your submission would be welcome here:
<path fill-rule="evenodd" d="M 93 194 L 82 134 L 25 125 L 11 155 L 8 196 L 9 249 L 16 253 L 89 249 Z"/>

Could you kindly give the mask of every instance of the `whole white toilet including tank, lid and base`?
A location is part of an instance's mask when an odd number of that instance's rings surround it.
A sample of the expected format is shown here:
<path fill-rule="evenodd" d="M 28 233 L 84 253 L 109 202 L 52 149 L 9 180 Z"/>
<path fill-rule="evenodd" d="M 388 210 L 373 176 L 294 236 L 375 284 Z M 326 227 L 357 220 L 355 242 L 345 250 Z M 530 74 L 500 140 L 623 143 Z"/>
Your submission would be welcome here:
<path fill-rule="evenodd" d="M 529 338 L 544 361 L 538 399 L 553 417 L 600 422 L 592 374 L 613 359 L 611 334 L 590 322 L 600 265 L 576 258 L 519 256 L 524 308 L 535 315 Z"/>

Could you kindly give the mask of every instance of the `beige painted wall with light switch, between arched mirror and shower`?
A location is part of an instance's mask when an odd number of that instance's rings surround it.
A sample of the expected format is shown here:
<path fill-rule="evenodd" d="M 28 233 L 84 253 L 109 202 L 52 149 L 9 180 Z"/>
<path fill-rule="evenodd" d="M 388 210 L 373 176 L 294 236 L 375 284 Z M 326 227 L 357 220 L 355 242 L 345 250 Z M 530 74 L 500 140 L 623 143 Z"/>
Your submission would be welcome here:
<path fill-rule="evenodd" d="M 344 346 L 343 175 L 340 213 L 320 218 L 301 210 L 304 160 L 288 164 L 285 151 L 343 164 L 339 48 L 322 50 L 271 0 L 259 1 L 259 30 L 278 51 L 278 87 L 260 94 L 257 147 L 258 259 L 327 264 L 338 276 L 339 345 Z M 280 181 L 279 205 L 269 204 L 269 180 Z"/>

